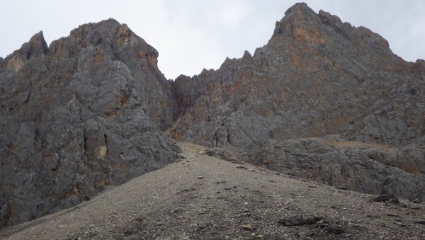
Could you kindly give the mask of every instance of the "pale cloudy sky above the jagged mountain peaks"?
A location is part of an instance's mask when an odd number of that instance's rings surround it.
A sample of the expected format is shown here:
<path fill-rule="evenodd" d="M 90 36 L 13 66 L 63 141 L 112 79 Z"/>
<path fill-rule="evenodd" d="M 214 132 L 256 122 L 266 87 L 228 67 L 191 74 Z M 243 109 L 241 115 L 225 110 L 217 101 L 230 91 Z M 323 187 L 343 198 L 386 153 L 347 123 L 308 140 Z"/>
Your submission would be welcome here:
<path fill-rule="evenodd" d="M 47 44 L 84 23 L 115 18 L 159 51 L 167 79 L 217 69 L 266 45 L 276 21 L 299 1 L 290 0 L 13 0 L 0 8 L 0 57 L 18 50 L 40 30 Z M 424 0 L 310 0 L 341 21 L 382 35 L 403 59 L 425 58 Z"/>

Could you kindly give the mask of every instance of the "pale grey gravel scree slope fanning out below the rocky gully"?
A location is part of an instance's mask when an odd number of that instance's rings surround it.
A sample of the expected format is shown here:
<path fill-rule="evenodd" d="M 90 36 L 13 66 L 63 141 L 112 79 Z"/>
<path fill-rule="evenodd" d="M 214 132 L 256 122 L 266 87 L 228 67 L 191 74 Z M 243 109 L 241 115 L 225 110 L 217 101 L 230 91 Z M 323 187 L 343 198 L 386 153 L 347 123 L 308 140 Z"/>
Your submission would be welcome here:
<path fill-rule="evenodd" d="M 186 159 L 0 239 L 425 239 L 424 203 L 371 202 L 180 146 Z"/>

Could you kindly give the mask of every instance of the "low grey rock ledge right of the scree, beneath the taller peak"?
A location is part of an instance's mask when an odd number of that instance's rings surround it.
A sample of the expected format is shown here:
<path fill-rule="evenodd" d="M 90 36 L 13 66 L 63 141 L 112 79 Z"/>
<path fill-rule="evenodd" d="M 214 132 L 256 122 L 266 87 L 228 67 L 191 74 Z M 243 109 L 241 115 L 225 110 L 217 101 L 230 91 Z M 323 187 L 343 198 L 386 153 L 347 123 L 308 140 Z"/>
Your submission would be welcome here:
<path fill-rule="evenodd" d="M 337 188 L 414 200 L 425 194 L 424 159 L 419 152 L 423 154 L 424 149 L 322 138 L 271 139 L 250 159 L 266 168 Z"/>

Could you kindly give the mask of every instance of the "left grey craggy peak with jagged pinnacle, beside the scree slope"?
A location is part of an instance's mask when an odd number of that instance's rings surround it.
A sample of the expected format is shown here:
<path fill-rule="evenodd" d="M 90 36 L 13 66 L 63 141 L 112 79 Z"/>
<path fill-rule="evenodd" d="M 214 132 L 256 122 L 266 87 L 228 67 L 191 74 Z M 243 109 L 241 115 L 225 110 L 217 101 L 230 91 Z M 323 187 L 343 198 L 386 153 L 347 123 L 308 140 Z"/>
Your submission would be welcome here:
<path fill-rule="evenodd" d="M 0 228 L 174 161 L 177 110 L 158 52 L 113 19 L 0 61 Z"/>

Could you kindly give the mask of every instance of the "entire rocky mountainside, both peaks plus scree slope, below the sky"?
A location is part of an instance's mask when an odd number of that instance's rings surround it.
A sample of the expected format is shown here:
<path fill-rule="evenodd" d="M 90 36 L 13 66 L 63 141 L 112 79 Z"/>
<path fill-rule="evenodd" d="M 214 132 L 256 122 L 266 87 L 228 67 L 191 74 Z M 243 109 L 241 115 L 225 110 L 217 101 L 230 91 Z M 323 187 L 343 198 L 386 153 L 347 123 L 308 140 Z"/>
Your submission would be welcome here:
<path fill-rule="evenodd" d="M 425 61 L 306 4 L 272 28 L 175 81 L 113 19 L 0 58 L 0 229 L 78 205 L 0 236 L 424 237 Z"/>

